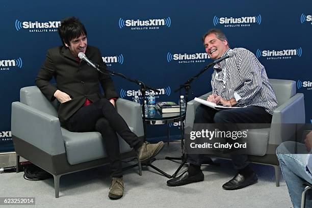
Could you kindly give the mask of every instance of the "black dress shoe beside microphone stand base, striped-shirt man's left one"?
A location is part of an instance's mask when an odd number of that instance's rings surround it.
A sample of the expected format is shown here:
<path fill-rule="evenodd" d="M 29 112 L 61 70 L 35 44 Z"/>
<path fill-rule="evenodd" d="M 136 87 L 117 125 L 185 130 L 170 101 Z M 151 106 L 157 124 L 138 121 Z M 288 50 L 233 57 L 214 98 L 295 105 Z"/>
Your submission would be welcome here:
<path fill-rule="evenodd" d="M 191 184 L 199 181 L 203 181 L 203 174 L 199 171 L 196 175 L 189 176 L 189 172 L 186 170 L 184 173 L 176 178 L 172 178 L 167 181 L 168 186 L 183 186 L 186 184 Z"/>

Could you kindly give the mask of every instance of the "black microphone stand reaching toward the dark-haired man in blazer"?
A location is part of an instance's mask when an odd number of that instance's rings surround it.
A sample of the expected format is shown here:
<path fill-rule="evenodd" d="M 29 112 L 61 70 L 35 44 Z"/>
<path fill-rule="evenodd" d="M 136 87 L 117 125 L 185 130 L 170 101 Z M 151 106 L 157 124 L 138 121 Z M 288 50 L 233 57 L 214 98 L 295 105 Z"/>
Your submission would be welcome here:
<path fill-rule="evenodd" d="M 107 68 L 103 68 L 103 67 L 101 67 L 101 66 L 99 66 L 99 65 L 96 65 L 96 67 L 93 67 L 93 68 L 95 68 L 95 69 L 96 69 L 98 72 L 100 72 L 100 73 L 103 73 L 103 74 L 107 74 L 107 75 L 108 75 L 108 73 L 103 72 L 103 71 L 100 70 L 99 68 L 105 69 L 105 70 L 108 71 L 110 74 L 120 76 L 120 77 L 122 77 L 123 79 L 125 79 L 125 80 L 127 80 L 127 81 L 129 81 L 129 82 L 133 82 L 133 83 L 136 83 L 137 85 L 139 85 L 139 86 L 141 87 L 141 93 L 142 93 L 142 96 L 143 96 L 142 114 L 143 114 L 143 118 L 145 118 L 145 108 L 146 108 L 146 107 L 145 107 L 144 100 L 145 100 L 145 91 L 146 91 L 146 89 L 153 90 L 154 92 L 158 92 L 158 93 L 160 93 L 160 90 L 155 89 L 155 88 L 152 88 L 152 87 L 150 87 L 150 86 L 147 86 L 147 85 L 145 85 L 145 84 L 144 84 L 143 82 L 141 82 L 141 81 L 132 80 L 132 79 L 126 77 L 124 74 L 117 73 L 117 72 L 114 72 L 114 71 L 110 71 L 110 70 L 108 70 Z M 143 131 L 144 131 L 144 142 L 145 142 L 145 141 L 146 141 L 146 122 L 145 122 L 145 121 L 143 122 Z M 165 172 L 162 171 L 161 169 L 159 169 L 159 168 L 157 168 L 157 167 L 155 167 L 155 166 L 153 166 L 153 165 L 151 164 L 151 163 L 154 162 L 155 160 L 156 160 L 155 158 L 153 158 L 153 159 L 151 159 L 151 160 L 148 160 L 148 161 L 142 163 L 142 166 L 149 166 L 149 167 L 153 168 L 154 170 L 160 172 L 160 173 L 163 174 L 164 176 L 166 176 L 166 177 L 168 177 L 168 178 L 171 178 L 171 175 L 165 173 Z M 131 166 L 128 166 L 128 167 L 123 168 L 123 170 L 127 170 L 127 169 L 130 169 L 130 168 L 139 166 L 139 165 L 140 165 L 140 164 L 131 165 Z"/>

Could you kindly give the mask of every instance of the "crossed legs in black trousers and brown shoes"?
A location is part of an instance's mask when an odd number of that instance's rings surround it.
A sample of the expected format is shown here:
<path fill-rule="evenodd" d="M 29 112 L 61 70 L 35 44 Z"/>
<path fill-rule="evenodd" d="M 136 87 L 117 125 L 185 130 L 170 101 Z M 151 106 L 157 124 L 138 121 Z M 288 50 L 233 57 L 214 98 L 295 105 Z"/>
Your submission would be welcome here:
<path fill-rule="evenodd" d="M 153 158 L 164 146 L 163 142 L 149 144 L 139 139 L 128 127 L 108 99 L 100 99 L 82 107 L 68 119 L 67 128 L 72 132 L 98 131 L 105 141 L 108 158 L 111 162 L 112 186 L 110 198 L 118 199 L 123 195 L 122 169 L 119 141 L 116 132 L 138 152 L 141 161 Z"/>

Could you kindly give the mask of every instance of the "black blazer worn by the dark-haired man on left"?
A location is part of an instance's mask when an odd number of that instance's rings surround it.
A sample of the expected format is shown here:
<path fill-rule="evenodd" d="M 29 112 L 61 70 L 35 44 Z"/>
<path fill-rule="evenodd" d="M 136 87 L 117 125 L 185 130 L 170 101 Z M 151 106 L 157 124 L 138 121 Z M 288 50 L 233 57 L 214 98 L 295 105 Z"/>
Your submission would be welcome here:
<path fill-rule="evenodd" d="M 87 46 L 86 56 L 108 73 L 98 48 Z M 55 77 L 57 86 L 50 83 L 53 77 Z M 55 99 L 54 93 L 57 90 L 61 90 L 71 97 L 71 100 L 61 103 L 58 109 L 59 119 L 63 125 L 83 106 L 86 98 L 95 102 L 100 98 L 118 97 L 110 75 L 98 72 L 85 61 L 76 60 L 70 50 L 64 46 L 47 51 L 46 59 L 35 82 L 50 101 Z M 105 96 L 100 92 L 99 83 Z"/>

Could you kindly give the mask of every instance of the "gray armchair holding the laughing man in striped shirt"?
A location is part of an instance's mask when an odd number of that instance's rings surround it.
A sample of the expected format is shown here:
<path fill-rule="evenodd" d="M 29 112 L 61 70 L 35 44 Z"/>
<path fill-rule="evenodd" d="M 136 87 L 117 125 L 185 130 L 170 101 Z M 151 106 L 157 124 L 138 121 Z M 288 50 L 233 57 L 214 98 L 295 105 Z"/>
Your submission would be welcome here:
<path fill-rule="evenodd" d="M 293 139 L 292 135 L 294 135 L 296 128 L 295 124 L 305 123 L 304 96 L 302 93 L 296 93 L 295 81 L 270 79 L 269 82 L 274 89 L 278 107 L 273 112 L 270 128 L 249 129 L 248 141 L 251 146 L 248 154 L 250 162 L 274 167 L 275 181 L 278 187 L 279 163 L 275 155 L 275 150 L 282 141 Z M 212 92 L 204 94 L 199 98 L 206 99 L 210 94 Z M 195 100 L 188 102 L 186 127 L 193 126 L 196 108 L 199 105 Z M 217 153 L 211 156 L 229 159 L 229 155 L 223 153 Z"/>

